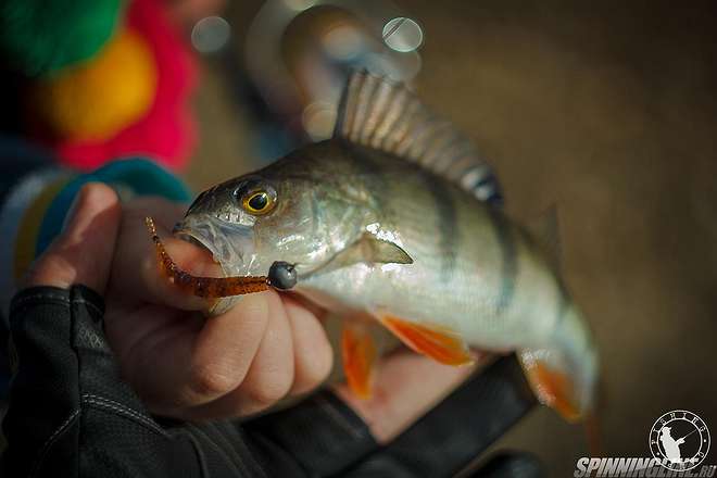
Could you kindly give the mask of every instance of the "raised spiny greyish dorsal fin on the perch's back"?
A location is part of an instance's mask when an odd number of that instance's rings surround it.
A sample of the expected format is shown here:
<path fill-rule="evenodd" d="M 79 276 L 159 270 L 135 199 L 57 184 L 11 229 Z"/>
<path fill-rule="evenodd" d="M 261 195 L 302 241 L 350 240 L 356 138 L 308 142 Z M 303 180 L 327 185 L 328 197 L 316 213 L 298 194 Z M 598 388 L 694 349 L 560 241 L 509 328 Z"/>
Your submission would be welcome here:
<path fill-rule="evenodd" d="M 492 168 L 470 140 L 404 84 L 365 71 L 352 73 L 337 118 L 335 137 L 415 162 L 481 201 L 502 202 Z"/>

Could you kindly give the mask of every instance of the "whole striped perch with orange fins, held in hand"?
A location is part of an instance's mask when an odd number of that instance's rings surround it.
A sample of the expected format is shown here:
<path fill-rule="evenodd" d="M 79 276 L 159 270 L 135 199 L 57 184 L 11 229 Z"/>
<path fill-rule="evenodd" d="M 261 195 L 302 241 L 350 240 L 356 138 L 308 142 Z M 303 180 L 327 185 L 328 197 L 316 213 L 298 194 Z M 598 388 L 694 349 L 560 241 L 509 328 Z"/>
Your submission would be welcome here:
<path fill-rule="evenodd" d="M 469 364 L 471 349 L 516 351 L 540 401 L 569 420 L 592 406 L 598 353 L 550 254 L 503 213 L 470 141 L 401 84 L 354 73 L 331 139 L 202 192 L 175 235 L 236 282 L 203 278 L 205 297 L 263 290 L 273 264 L 291 264 L 292 290 L 345 318 L 360 397 L 375 356 L 367 327 L 379 324 L 448 365 Z"/>

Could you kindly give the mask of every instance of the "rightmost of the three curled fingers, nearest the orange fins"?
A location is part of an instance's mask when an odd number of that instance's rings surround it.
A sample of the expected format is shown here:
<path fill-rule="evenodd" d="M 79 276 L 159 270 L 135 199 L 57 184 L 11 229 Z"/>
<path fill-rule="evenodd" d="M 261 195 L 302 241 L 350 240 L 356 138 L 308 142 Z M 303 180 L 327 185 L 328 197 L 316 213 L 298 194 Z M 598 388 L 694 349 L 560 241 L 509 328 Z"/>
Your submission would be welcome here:
<path fill-rule="evenodd" d="M 297 395 L 306 393 L 326 380 L 334 365 L 334 351 L 316 316 L 293 299 L 284 295 L 281 299 L 293 343 L 293 385 L 289 394 Z"/>

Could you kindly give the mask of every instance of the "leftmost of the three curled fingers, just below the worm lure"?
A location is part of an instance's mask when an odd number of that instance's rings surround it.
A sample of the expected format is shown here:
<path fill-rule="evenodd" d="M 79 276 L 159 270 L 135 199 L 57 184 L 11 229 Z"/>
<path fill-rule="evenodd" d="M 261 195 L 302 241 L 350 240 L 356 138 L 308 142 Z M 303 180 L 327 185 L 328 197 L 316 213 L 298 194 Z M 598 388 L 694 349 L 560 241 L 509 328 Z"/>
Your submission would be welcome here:
<path fill-rule="evenodd" d="M 187 313 L 174 310 L 176 316 L 167 318 L 174 325 L 162 329 L 162 339 L 150 335 L 133 345 L 126 355 L 128 380 L 139 383 L 153 412 L 188 417 L 188 410 L 243 382 L 268 323 L 265 294 L 248 295 L 226 313 L 202 319 L 194 330 L 187 329 Z"/>

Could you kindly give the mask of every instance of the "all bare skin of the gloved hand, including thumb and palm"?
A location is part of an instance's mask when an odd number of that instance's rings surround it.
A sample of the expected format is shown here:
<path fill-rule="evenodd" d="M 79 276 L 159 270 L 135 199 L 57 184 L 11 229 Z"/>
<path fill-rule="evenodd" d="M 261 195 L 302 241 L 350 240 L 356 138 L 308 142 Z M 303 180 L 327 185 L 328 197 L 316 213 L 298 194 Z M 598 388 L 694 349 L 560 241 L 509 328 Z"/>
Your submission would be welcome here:
<path fill-rule="evenodd" d="M 183 207 L 138 199 L 120 209 L 105 186 L 86 187 L 76 216 L 38 262 L 45 265 L 36 268 L 32 284 L 67 287 L 81 279 L 104 292 L 109 281 L 105 330 L 125 378 L 150 410 L 189 419 L 244 416 L 326 378 L 332 353 L 314 311 L 289 294 L 267 291 L 242 298 L 217 317 L 203 317 L 199 311 L 206 302 L 179 292 L 159 273 L 143 223 L 147 215 L 155 218 L 180 267 L 218 274 L 209 253 L 171 237 Z M 72 254 L 66 243 L 75 244 Z M 56 259 L 67 254 L 72 257 Z M 67 273 L 73 267 L 87 271 Z M 379 441 L 388 441 L 469 373 L 402 351 L 378 364 L 373 400 L 357 400 L 344 386 L 337 393 Z"/>

